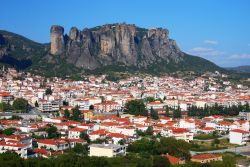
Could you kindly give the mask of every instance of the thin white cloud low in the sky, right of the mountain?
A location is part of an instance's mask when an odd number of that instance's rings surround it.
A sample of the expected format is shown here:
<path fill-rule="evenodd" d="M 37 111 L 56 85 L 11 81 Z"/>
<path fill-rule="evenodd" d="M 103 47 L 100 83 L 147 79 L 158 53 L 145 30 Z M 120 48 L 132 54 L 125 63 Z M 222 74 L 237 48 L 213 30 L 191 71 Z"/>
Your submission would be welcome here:
<path fill-rule="evenodd" d="M 190 54 L 198 55 L 198 56 L 219 56 L 224 55 L 225 52 L 215 50 L 213 48 L 205 48 L 205 47 L 195 47 L 188 51 Z"/>

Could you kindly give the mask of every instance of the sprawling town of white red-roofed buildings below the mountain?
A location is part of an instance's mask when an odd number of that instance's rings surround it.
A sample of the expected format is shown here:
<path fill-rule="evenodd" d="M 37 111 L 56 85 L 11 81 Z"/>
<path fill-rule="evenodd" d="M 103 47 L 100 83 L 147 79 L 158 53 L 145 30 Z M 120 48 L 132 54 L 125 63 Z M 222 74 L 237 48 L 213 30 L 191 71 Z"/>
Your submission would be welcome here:
<path fill-rule="evenodd" d="M 190 146 L 185 154 L 161 152 L 171 165 L 250 155 L 249 87 L 219 72 L 112 82 L 105 75 L 73 81 L 3 67 L 0 102 L 0 153 L 24 159 L 69 150 L 117 157 L 138 153 L 152 139 Z"/>

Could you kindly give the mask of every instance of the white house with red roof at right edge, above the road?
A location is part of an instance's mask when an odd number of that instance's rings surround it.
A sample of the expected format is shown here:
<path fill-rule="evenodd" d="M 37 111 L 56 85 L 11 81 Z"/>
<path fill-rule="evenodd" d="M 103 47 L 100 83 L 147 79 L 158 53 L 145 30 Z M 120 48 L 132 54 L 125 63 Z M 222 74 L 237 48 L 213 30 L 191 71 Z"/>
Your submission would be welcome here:
<path fill-rule="evenodd" d="M 249 131 L 233 129 L 229 132 L 229 141 L 232 144 L 244 145 L 249 141 L 249 136 Z"/>

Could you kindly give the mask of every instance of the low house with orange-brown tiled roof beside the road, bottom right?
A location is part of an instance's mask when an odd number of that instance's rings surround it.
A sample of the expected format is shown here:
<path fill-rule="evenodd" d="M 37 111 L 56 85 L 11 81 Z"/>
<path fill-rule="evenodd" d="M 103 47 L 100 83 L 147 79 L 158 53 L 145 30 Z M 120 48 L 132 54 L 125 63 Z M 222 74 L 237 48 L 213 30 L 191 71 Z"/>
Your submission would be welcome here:
<path fill-rule="evenodd" d="M 209 163 L 211 161 L 222 161 L 220 154 L 197 154 L 191 157 L 192 162 Z"/>

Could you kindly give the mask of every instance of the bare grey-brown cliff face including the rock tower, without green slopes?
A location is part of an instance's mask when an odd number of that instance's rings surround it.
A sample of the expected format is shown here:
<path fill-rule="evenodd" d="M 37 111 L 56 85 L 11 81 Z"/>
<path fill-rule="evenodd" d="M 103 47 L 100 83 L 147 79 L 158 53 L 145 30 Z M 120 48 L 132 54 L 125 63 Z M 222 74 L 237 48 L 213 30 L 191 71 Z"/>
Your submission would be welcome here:
<path fill-rule="evenodd" d="M 162 60 L 179 63 L 183 53 L 166 29 L 142 29 L 130 24 L 108 24 L 93 29 L 51 27 L 51 54 L 85 69 L 124 64 L 146 68 Z"/>

